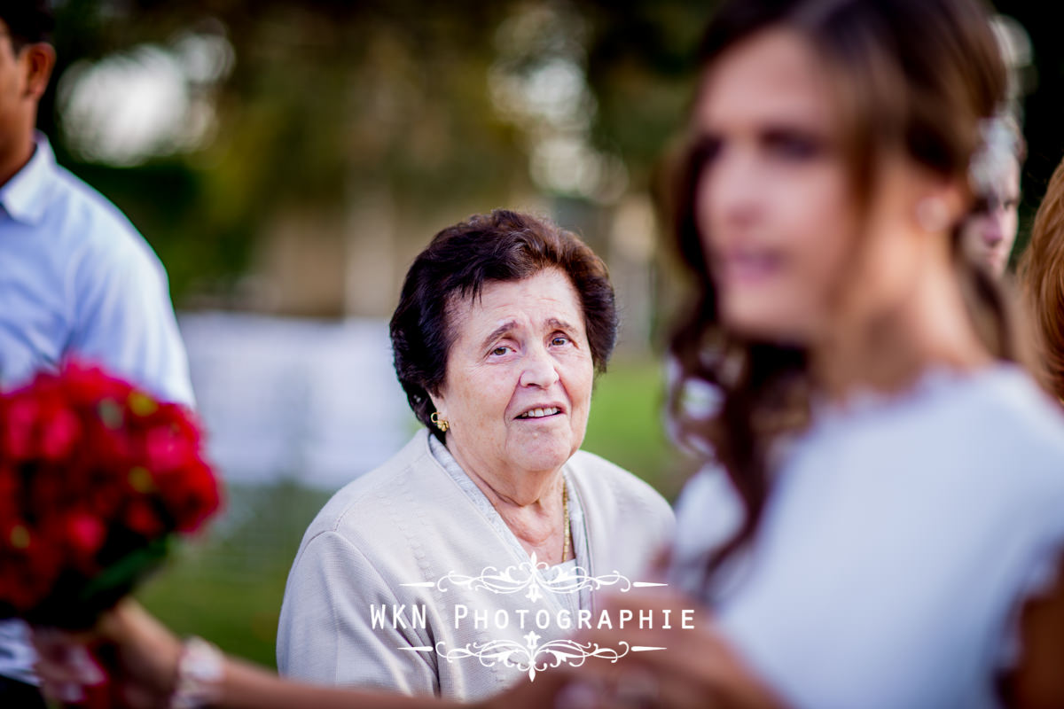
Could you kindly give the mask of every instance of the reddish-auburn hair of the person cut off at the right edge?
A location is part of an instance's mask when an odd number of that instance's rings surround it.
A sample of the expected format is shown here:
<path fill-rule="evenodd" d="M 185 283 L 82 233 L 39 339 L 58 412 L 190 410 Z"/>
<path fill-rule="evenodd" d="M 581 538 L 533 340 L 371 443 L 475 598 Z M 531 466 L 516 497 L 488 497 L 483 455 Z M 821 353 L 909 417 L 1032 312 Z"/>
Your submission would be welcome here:
<path fill-rule="evenodd" d="M 1033 325 L 1035 375 L 1064 401 L 1064 163 L 1053 171 L 1034 217 L 1019 283 Z"/>

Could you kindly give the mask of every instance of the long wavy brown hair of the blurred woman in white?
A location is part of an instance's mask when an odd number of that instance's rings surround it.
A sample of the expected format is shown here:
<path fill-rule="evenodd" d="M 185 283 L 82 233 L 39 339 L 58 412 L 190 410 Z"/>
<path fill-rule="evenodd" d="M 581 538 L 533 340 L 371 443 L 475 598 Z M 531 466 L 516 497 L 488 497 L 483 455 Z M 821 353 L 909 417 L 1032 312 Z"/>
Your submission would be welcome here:
<path fill-rule="evenodd" d="M 977 0 L 729 1 L 704 35 L 703 67 L 774 28 L 803 36 L 831 73 L 859 203 L 870 199 L 877 158 L 888 150 L 904 150 L 935 173 L 966 184 L 979 121 L 994 113 L 1005 88 L 1004 66 Z M 708 559 L 709 579 L 757 533 L 770 491 L 770 458 L 784 438 L 807 425 L 811 382 L 803 349 L 751 341 L 720 322 L 695 219 L 705 151 L 696 137 L 677 175 L 677 246 L 697 286 L 670 342 L 681 370 L 670 409 L 681 440 L 711 453 L 745 507 L 734 537 Z M 1003 298 L 988 275 L 964 261 L 959 230 L 953 254 L 981 336 L 996 356 L 1012 358 Z M 685 406 L 692 383 L 718 394 L 715 410 L 705 415 Z"/>

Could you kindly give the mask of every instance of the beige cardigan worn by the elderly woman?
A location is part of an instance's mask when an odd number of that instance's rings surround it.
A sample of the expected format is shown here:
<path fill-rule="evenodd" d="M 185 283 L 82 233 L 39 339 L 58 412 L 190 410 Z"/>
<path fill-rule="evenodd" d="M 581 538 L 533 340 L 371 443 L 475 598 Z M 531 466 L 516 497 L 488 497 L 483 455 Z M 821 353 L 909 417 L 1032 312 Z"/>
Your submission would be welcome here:
<path fill-rule="evenodd" d="M 538 648 L 571 635 L 575 613 L 595 612 L 596 591 L 576 572 L 641 580 L 671 538 L 661 495 L 580 451 L 563 467 L 576 562 L 533 579 L 529 555 L 498 512 L 434 445 L 418 432 L 311 523 L 281 608 L 282 674 L 454 699 L 497 693 L 528 677 L 522 648 L 542 664 Z"/>

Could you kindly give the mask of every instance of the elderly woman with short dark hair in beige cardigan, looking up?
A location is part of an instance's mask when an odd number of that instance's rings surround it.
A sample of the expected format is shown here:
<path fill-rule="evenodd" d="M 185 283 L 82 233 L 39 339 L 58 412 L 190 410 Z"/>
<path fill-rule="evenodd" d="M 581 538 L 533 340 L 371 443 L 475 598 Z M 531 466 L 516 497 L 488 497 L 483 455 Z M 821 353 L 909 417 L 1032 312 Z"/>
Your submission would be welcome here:
<path fill-rule="evenodd" d="M 425 428 L 307 528 L 281 609 L 283 674 L 483 697 L 587 627 L 600 583 L 637 580 L 671 510 L 579 450 L 616 331 L 605 266 L 572 234 L 498 210 L 435 236 L 392 318 Z"/>

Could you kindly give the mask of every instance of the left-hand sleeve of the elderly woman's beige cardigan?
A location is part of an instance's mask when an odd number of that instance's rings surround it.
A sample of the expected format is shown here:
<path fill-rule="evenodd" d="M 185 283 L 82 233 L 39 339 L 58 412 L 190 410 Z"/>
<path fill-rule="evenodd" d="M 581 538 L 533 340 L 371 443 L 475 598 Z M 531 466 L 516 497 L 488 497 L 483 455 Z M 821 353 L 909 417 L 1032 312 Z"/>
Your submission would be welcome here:
<path fill-rule="evenodd" d="M 383 622 L 375 623 L 371 608 Z M 393 611 L 406 622 L 393 623 Z M 320 534 L 288 575 L 278 670 L 315 683 L 438 694 L 435 652 L 412 649 L 433 642 L 425 628 L 413 627 L 411 613 L 361 550 L 334 531 Z"/>

